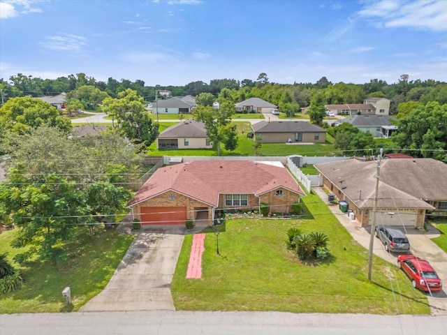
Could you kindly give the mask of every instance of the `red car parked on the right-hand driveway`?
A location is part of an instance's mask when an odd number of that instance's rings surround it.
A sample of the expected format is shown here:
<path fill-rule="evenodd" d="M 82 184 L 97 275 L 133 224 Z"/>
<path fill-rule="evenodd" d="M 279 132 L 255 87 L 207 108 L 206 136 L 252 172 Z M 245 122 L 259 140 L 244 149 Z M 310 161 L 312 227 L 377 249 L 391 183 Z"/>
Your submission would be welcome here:
<path fill-rule="evenodd" d="M 441 291 L 441 279 L 429 262 L 413 255 L 399 255 L 397 266 L 410 278 L 413 288 L 422 291 Z"/>

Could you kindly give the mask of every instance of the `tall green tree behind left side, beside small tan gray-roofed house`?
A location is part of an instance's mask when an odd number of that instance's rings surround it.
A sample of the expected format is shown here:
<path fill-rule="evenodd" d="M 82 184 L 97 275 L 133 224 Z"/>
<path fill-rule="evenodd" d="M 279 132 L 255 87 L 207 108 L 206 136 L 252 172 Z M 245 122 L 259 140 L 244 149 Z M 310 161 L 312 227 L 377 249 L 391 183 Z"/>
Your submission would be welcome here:
<path fill-rule="evenodd" d="M 145 147 L 156 140 L 159 124 L 145 110 L 144 99 L 133 89 L 119 92 L 118 98 L 105 98 L 103 108 L 117 120 L 122 134 Z"/>

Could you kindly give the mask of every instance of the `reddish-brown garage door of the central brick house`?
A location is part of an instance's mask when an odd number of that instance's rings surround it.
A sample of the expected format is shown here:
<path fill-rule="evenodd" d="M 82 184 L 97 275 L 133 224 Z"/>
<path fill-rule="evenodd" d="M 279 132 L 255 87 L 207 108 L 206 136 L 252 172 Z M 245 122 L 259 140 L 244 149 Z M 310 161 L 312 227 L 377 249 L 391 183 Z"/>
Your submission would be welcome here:
<path fill-rule="evenodd" d="M 184 225 L 186 207 L 141 207 L 142 225 Z"/>

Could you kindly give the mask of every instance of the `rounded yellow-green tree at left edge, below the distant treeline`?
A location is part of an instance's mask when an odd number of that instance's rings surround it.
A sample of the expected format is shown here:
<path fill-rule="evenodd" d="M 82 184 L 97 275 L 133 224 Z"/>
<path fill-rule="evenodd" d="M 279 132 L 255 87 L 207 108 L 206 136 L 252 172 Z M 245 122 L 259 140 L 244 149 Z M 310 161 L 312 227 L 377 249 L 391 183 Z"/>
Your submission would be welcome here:
<path fill-rule="evenodd" d="M 27 133 L 43 124 L 64 132 L 71 130 L 70 119 L 62 117 L 55 107 L 40 99 L 29 96 L 10 98 L 0 108 L 0 127 L 15 133 Z"/>

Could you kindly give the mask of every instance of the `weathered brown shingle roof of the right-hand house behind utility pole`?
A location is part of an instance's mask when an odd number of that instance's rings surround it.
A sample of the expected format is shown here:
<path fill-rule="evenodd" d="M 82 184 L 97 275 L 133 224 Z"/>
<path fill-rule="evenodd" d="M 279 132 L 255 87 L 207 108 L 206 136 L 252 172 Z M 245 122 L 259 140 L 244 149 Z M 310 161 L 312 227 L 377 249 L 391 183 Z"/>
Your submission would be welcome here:
<path fill-rule="evenodd" d="M 416 163 L 413 163 L 414 160 Z M 446 199 L 447 193 L 441 190 L 447 188 L 447 165 L 434 162 L 437 161 L 431 158 L 384 159 L 381 161 L 378 207 L 433 209 L 423 199 Z M 427 175 L 420 169 L 420 166 L 418 168 L 418 165 L 425 166 L 426 169 L 434 168 L 438 174 Z M 320 163 L 314 166 L 333 184 L 346 187 L 343 192 L 359 207 L 373 207 L 377 161 L 362 162 L 351 159 Z M 444 177 L 442 177 L 443 175 Z M 343 180 L 343 185 L 339 184 L 339 180 Z M 426 195 L 426 197 L 421 195 Z"/>

